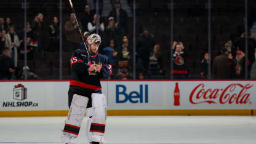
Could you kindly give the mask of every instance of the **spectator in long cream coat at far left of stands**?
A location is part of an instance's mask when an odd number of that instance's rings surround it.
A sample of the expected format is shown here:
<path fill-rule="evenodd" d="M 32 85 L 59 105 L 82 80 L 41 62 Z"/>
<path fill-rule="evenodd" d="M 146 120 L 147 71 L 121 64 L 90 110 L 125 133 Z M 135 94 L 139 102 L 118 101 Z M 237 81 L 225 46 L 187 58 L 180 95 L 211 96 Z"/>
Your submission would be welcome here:
<path fill-rule="evenodd" d="M 14 26 L 11 26 L 9 32 L 6 34 L 6 47 L 9 48 L 10 57 L 14 60 L 14 66 L 17 68 L 18 47 L 20 47 L 20 41 L 15 33 Z"/>

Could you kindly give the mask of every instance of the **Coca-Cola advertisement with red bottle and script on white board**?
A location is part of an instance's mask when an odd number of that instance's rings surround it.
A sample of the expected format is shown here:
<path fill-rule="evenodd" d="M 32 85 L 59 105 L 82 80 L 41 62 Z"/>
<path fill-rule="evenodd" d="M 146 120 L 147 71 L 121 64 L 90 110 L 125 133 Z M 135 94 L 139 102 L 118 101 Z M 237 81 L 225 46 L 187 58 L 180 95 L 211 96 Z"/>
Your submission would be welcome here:
<path fill-rule="evenodd" d="M 174 106 L 177 106 L 175 99 L 179 97 L 180 107 L 188 109 L 256 108 L 254 82 L 182 81 L 176 82 L 173 86 Z"/>

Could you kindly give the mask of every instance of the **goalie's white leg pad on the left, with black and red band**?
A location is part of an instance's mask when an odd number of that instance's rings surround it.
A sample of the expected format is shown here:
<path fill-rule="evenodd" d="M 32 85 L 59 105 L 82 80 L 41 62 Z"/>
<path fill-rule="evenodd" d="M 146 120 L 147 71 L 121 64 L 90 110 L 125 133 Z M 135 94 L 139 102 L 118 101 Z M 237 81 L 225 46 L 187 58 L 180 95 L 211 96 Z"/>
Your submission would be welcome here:
<path fill-rule="evenodd" d="M 74 94 L 62 134 L 63 143 L 75 143 L 89 98 Z"/>

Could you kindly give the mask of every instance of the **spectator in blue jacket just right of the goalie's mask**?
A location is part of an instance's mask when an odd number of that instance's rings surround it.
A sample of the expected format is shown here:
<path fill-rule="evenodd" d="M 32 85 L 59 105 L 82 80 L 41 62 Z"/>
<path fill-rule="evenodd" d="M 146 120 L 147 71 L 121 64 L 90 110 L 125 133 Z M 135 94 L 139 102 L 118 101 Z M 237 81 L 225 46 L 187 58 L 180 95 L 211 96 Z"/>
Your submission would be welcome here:
<path fill-rule="evenodd" d="M 104 55 L 108 57 L 108 60 L 110 60 L 111 65 L 112 65 L 112 73 L 116 74 L 118 73 L 118 62 L 116 60 L 116 55 L 118 52 L 115 51 L 115 43 L 114 39 L 110 40 L 110 44 L 108 47 L 105 47 L 103 49 Z"/>

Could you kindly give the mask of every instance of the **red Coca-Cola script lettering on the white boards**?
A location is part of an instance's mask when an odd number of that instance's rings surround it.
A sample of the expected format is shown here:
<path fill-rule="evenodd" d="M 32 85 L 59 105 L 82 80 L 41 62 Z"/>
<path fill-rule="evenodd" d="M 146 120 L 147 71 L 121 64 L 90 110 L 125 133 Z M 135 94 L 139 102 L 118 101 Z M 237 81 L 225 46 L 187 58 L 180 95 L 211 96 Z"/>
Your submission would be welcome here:
<path fill-rule="evenodd" d="M 242 84 L 230 84 L 225 89 L 205 89 L 205 84 L 199 84 L 194 87 L 190 94 L 190 103 L 251 103 L 249 101 L 250 94 L 247 93 L 247 90 L 252 86 L 254 86 L 254 84 L 246 84 L 245 86 Z"/>

